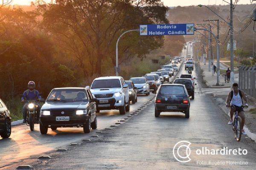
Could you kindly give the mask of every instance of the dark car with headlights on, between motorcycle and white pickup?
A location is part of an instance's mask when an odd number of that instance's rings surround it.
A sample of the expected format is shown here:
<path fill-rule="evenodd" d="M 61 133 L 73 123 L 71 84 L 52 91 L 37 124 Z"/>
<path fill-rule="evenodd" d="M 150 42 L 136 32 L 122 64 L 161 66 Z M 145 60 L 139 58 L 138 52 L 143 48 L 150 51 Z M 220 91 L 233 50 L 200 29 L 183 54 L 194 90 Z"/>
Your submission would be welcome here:
<path fill-rule="evenodd" d="M 48 128 L 83 127 L 84 133 L 97 128 L 96 99 L 89 88 L 54 88 L 40 113 L 40 132 Z"/>

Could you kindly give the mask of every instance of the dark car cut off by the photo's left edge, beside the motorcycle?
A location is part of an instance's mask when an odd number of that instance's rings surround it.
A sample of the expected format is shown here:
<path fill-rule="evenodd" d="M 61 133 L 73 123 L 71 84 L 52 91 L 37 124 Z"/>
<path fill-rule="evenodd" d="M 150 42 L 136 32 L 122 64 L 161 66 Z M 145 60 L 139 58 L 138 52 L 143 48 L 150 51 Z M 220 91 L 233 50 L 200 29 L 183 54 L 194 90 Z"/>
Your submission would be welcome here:
<path fill-rule="evenodd" d="M 10 111 L 0 99 L 0 136 L 2 138 L 9 138 L 12 133 Z"/>

